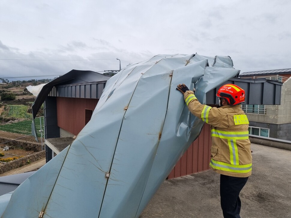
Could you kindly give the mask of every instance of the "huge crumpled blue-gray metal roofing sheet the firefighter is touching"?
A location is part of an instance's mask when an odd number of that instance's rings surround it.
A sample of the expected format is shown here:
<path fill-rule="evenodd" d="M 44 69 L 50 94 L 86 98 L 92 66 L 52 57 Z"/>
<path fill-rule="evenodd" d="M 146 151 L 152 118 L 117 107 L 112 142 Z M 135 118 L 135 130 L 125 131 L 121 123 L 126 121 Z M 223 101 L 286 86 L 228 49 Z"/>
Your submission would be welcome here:
<path fill-rule="evenodd" d="M 208 90 L 238 73 L 230 57 L 198 54 L 157 55 L 127 66 L 107 81 L 73 143 L 24 181 L 0 215 L 139 217 L 204 124 L 177 85 L 195 87 L 205 103 Z"/>

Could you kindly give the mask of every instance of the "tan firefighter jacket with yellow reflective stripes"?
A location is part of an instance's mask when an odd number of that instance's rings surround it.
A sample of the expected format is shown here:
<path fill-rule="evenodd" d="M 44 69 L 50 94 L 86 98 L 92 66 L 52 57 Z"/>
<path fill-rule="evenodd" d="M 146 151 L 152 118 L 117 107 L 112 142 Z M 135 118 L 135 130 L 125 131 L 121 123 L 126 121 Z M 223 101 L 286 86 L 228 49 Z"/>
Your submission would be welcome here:
<path fill-rule="evenodd" d="M 212 108 L 202 105 L 192 91 L 185 92 L 184 99 L 191 113 L 211 125 L 210 167 L 223 175 L 250 176 L 249 122 L 240 105 Z"/>

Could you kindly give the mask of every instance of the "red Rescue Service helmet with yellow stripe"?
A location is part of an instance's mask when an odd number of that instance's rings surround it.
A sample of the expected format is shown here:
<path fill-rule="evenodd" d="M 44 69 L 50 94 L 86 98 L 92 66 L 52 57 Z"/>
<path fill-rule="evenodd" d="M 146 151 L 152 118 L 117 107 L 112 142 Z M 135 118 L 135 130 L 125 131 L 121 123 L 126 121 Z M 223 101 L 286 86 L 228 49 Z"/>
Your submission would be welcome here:
<path fill-rule="evenodd" d="M 234 84 L 225 84 L 219 88 L 216 93 L 218 98 L 225 99 L 229 105 L 238 105 L 244 103 L 244 90 Z"/>

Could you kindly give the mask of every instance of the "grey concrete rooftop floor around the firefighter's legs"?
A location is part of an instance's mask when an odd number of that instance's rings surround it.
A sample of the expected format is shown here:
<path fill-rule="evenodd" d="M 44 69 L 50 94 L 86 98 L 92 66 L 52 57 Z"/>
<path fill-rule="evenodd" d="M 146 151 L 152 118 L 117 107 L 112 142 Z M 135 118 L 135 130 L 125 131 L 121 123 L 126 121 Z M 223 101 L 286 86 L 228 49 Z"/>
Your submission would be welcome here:
<path fill-rule="evenodd" d="M 241 218 L 291 217 L 291 151 L 251 144 L 253 172 L 240 193 Z M 213 170 L 166 180 L 140 218 L 223 218 Z"/>

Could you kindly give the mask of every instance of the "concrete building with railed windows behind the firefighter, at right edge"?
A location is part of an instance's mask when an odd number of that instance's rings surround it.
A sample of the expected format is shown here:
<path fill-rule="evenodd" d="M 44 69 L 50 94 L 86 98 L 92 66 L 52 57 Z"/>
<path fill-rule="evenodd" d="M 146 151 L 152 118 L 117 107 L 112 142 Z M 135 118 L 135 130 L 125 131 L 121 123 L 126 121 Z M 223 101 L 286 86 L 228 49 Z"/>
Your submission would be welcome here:
<path fill-rule="evenodd" d="M 268 79 L 283 82 L 279 104 L 247 104 L 242 109 L 249 119 L 252 135 L 291 141 L 291 69 L 242 72 L 240 78 Z M 265 93 L 268 90 L 264 90 Z M 254 93 L 254 91 L 252 92 Z M 269 94 L 265 95 L 268 98 Z"/>

